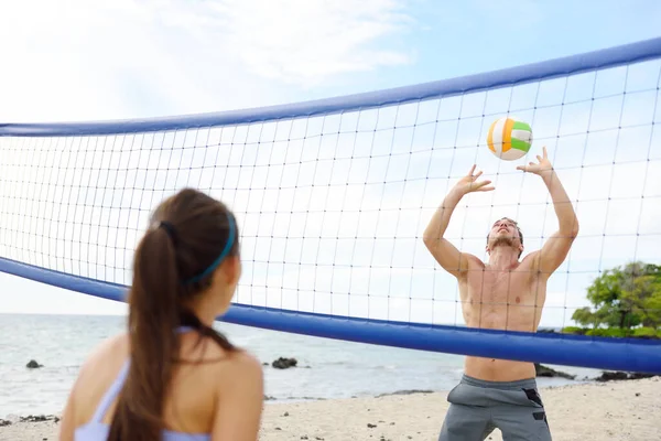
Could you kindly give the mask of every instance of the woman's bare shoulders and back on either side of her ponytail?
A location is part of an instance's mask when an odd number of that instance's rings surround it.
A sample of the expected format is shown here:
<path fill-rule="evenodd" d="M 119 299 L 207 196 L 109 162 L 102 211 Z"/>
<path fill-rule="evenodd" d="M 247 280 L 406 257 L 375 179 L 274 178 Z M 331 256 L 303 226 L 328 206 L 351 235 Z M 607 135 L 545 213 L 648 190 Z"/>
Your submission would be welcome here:
<path fill-rule="evenodd" d="M 195 330 L 181 329 L 180 336 L 182 362 L 175 365 L 164 401 L 163 441 L 256 439 L 241 432 L 259 424 L 261 409 L 250 409 L 263 397 L 259 362 L 241 351 L 227 353 L 208 337 L 201 342 Z M 106 440 L 129 363 L 126 334 L 101 344 L 85 363 L 69 398 L 75 400 L 68 416 L 76 428 L 73 440 Z"/>

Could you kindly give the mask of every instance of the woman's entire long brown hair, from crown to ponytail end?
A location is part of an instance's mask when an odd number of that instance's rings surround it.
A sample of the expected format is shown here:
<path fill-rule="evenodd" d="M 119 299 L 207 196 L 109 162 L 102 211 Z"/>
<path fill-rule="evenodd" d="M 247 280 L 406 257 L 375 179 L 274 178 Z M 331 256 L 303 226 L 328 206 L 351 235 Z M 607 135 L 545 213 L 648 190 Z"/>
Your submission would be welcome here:
<path fill-rule="evenodd" d="M 227 351 L 231 343 L 184 304 L 210 286 L 215 267 L 239 252 L 238 228 L 219 201 L 184 189 L 163 201 L 136 249 L 129 291 L 130 367 L 110 426 L 109 441 L 156 441 L 163 405 L 187 325 Z"/>

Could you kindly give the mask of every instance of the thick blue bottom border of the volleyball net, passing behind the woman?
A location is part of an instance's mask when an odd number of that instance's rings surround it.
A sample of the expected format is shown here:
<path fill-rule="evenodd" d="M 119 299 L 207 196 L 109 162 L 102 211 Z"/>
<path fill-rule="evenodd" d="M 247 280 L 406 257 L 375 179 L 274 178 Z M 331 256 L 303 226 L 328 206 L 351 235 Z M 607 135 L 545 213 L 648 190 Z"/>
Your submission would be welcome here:
<path fill-rule="evenodd" d="M 0 258 L 0 271 L 113 301 L 127 287 Z M 606 370 L 661 374 L 661 341 L 432 325 L 231 304 L 219 321 L 348 342 Z"/>

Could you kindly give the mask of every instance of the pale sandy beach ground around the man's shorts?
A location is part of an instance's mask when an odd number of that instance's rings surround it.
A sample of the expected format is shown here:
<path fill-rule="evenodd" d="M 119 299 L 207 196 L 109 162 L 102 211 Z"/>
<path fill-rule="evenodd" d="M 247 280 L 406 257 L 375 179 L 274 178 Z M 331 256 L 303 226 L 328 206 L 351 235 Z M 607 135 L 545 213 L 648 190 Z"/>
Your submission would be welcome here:
<path fill-rule="evenodd" d="M 661 377 L 541 389 L 555 441 L 649 441 L 661 433 Z M 260 439 L 436 440 L 447 392 L 268 404 Z M 0 440 L 57 440 L 57 423 L 14 422 Z M 498 430 L 489 440 L 502 440 Z"/>

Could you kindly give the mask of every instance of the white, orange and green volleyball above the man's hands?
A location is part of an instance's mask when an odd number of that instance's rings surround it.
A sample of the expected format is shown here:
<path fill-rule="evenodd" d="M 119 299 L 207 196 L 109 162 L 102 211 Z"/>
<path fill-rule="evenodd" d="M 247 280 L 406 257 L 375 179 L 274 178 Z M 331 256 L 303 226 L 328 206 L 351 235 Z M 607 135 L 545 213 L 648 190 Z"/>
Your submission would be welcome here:
<path fill-rule="evenodd" d="M 487 144 L 496 157 L 514 161 L 524 157 L 530 150 L 532 129 L 528 122 L 514 117 L 499 118 L 489 127 Z"/>

